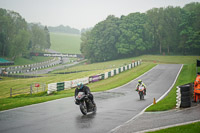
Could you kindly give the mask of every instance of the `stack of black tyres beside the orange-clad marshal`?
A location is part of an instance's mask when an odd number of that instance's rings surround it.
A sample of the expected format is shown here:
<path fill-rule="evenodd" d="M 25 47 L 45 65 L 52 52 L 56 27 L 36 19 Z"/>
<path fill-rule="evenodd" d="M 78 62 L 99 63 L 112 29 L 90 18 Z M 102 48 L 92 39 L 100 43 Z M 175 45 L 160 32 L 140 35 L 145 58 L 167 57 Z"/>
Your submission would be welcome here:
<path fill-rule="evenodd" d="M 191 90 L 190 85 L 180 86 L 181 91 L 181 108 L 191 107 Z"/>

